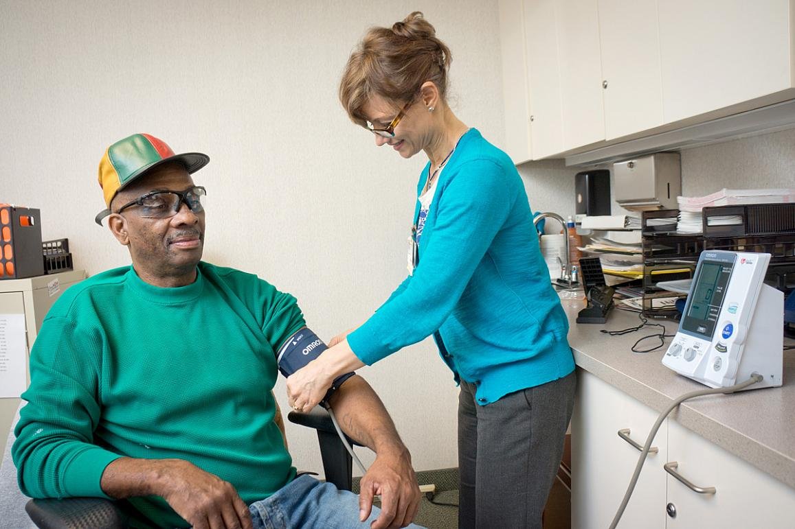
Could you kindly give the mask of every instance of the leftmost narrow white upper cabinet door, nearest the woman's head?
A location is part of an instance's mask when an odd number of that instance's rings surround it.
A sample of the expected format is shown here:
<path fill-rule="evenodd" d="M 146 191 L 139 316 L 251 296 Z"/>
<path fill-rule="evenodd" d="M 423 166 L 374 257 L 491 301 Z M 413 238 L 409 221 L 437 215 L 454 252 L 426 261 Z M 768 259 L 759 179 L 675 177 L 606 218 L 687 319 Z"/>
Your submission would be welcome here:
<path fill-rule="evenodd" d="M 499 30 L 505 151 L 514 164 L 522 164 L 532 158 L 522 0 L 499 0 Z"/>

